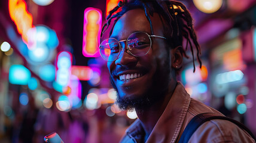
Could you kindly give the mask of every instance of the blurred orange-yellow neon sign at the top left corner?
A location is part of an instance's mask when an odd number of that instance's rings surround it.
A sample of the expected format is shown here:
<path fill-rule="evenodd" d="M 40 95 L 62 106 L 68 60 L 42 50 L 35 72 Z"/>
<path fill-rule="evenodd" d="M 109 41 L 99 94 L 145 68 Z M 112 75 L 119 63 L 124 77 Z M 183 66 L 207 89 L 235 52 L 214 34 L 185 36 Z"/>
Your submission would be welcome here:
<path fill-rule="evenodd" d="M 33 17 L 27 10 L 27 5 L 24 0 L 9 0 L 9 13 L 11 19 L 17 26 L 17 30 L 22 35 L 25 43 L 28 43 L 26 33 L 33 27 Z"/>

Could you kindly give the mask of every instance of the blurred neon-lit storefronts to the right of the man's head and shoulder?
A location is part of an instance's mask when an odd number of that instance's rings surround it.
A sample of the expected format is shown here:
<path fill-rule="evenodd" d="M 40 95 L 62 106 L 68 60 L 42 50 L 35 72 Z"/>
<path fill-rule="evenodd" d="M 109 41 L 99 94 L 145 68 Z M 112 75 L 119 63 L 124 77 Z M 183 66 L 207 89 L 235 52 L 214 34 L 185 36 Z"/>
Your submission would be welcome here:
<path fill-rule="evenodd" d="M 203 66 L 192 73 L 193 63 L 185 59 L 181 74 L 191 97 L 239 120 L 254 133 L 255 11 L 255 1 L 224 1 L 210 18 L 199 20 L 196 30 Z M 200 12 L 192 8 L 191 13 Z"/>

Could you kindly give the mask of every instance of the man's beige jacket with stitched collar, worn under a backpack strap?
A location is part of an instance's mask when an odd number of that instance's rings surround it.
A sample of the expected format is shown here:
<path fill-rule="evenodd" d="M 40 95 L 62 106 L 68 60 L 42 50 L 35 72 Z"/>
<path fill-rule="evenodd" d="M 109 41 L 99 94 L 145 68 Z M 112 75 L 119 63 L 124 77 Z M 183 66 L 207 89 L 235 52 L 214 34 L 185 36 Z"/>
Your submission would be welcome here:
<path fill-rule="evenodd" d="M 148 142 L 178 142 L 190 120 L 200 113 L 217 113 L 214 108 L 190 98 L 181 83 L 175 88 L 166 109 L 147 139 Z M 121 142 L 144 142 L 144 129 L 137 119 L 127 130 Z M 251 136 L 227 120 L 215 119 L 203 123 L 189 142 L 255 142 Z"/>

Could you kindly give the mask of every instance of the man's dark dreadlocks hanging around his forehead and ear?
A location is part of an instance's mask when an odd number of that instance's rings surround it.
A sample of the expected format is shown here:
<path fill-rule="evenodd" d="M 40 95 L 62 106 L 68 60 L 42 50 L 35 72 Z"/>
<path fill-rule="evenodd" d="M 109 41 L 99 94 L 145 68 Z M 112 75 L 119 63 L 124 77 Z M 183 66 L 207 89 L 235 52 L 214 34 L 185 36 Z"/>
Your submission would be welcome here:
<path fill-rule="evenodd" d="M 185 48 L 181 48 L 181 52 L 184 57 L 189 58 L 185 53 L 188 48 L 188 44 L 190 46 L 190 51 L 193 57 L 193 66 L 194 71 L 196 70 L 194 63 L 194 49 L 197 50 L 197 61 L 200 64 L 200 68 L 202 67 L 202 61 L 200 60 L 199 54 L 201 54 L 199 43 L 197 42 L 196 33 L 194 32 L 192 17 L 190 12 L 187 10 L 185 5 L 178 1 L 163 1 L 163 0 L 132 0 L 127 2 L 127 0 L 120 1 L 113 10 L 109 12 L 108 17 L 106 18 L 107 22 L 102 27 L 101 35 L 108 29 L 111 20 L 115 18 L 114 24 L 109 32 L 109 36 L 111 36 L 112 31 L 114 29 L 115 23 L 118 19 L 127 11 L 133 10 L 136 8 L 141 8 L 145 11 L 145 15 L 150 23 L 151 34 L 153 33 L 153 26 L 150 20 L 150 15 L 153 16 L 153 13 L 158 13 L 163 16 L 164 20 L 167 23 L 170 23 L 168 26 L 164 27 L 166 33 L 164 35 L 167 38 L 167 42 L 171 48 L 175 48 L 177 46 L 182 47 L 183 39 L 187 40 Z M 114 14 L 115 13 L 115 14 Z M 106 27 L 106 28 L 105 28 Z"/>

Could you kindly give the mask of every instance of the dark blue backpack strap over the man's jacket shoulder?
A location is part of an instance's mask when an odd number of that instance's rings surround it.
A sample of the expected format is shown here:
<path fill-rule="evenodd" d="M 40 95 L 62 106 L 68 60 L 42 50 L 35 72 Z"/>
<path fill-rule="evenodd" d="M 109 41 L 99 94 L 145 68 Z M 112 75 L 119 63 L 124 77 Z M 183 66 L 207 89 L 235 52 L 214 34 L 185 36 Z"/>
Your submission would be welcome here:
<path fill-rule="evenodd" d="M 190 122 L 186 126 L 184 132 L 182 133 L 181 138 L 179 139 L 179 143 L 188 142 L 190 137 L 193 135 L 193 133 L 196 131 L 196 129 L 199 128 L 200 125 L 202 125 L 203 123 L 205 123 L 209 120 L 213 120 L 213 119 L 228 120 L 228 121 L 236 124 L 237 126 L 239 126 L 239 128 L 248 132 L 249 135 L 251 135 L 252 138 L 254 138 L 254 140 L 256 141 L 252 132 L 248 128 L 246 128 L 245 125 L 238 122 L 237 120 L 230 119 L 230 118 L 225 117 L 225 116 L 220 116 L 220 115 L 215 114 L 215 113 L 202 113 L 202 114 L 198 114 L 197 116 L 194 116 L 193 119 L 190 120 Z"/>

